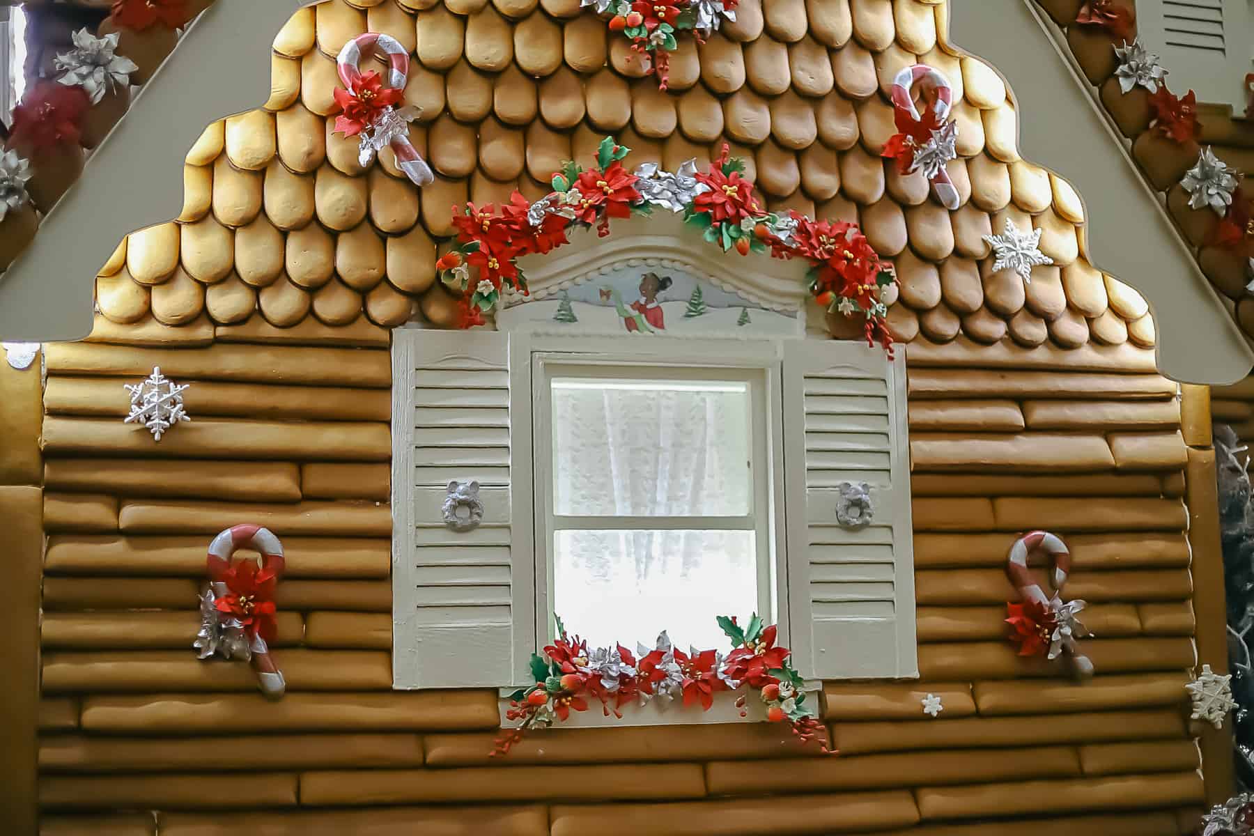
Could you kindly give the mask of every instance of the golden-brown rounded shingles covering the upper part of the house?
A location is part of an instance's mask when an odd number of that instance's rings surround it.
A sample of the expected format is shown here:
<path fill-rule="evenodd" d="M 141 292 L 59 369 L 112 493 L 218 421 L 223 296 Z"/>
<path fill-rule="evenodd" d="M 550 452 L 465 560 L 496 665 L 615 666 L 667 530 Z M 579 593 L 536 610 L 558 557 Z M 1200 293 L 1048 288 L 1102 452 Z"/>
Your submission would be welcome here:
<path fill-rule="evenodd" d="M 772 208 L 859 221 L 892 257 L 898 340 L 1090 341 L 1150 347 L 1145 300 L 1083 254 L 1076 191 L 1020 158 L 1001 76 L 943 43 L 939 0 L 742 0 L 737 20 L 673 55 L 670 90 L 578 0 L 329 0 L 275 39 L 265 109 L 209 125 L 187 155 L 177 222 L 133 233 L 100 272 L 110 323 L 395 326 L 418 302 L 438 325 L 454 298 L 434 262 L 451 207 L 535 198 L 564 159 L 613 134 L 628 163 L 742 157 Z M 332 132 L 334 55 L 364 31 L 414 50 L 405 99 L 415 147 L 438 174 L 414 189 L 389 152 L 369 169 Z M 888 85 L 915 61 L 954 85 L 962 206 L 929 198 L 879 152 L 894 132 Z M 1025 285 L 991 271 L 982 236 L 1006 218 L 1042 229 L 1055 261 Z"/>

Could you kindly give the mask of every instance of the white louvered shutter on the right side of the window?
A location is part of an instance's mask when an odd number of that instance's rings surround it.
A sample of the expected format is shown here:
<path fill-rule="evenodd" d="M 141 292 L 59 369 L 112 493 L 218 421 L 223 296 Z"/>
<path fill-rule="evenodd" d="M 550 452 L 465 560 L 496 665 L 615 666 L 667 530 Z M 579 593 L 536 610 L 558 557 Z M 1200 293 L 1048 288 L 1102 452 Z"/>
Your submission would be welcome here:
<path fill-rule="evenodd" d="M 902 355 L 810 340 L 784 350 L 789 640 L 806 677 L 918 676 Z M 841 483 L 869 485 L 870 525 L 836 521 Z"/>

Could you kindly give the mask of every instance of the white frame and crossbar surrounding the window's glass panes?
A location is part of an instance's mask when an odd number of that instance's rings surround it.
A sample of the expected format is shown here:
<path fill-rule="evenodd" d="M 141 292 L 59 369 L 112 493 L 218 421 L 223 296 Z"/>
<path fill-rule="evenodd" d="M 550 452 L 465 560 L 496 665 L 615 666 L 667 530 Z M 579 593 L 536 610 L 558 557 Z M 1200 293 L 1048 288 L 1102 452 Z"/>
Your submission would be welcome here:
<path fill-rule="evenodd" d="M 517 337 L 515 337 L 517 338 Z M 675 340 L 667 337 L 549 337 L 533 340 L 530 357 L 532 427 L 544 427 L 530 439 L 534 503 L 533 556 L 535 565 L 537 647 L 554 638 L 552 538 L 559 528 L 623 529 L 736 529 L 756 531 L 759 614 L 780 627 L 788 642 L 788 544 L 784 514 L 782 365 L 777 340 Z M 682 357 L 682 360 L 676 360 Z M 746 516 L 566 516 L 553 513 L 553 452 L 551 384 L 572 372 L 607 379 L 673 377 L 732 380 L 750 386 L 750 478 L 752 503 Z M 519 440 L 519 444 L 522 440 Z M 765 478 L 764 478 L 765 476 Z M 582 523 L 581 523 L 582 520 Z M 749 613 L 727 613 L 747 618 Z M 572 625 L 576 628 L 578 625 Z M 682 635 L 673 635 L 681 645 Z M 522 648 L 519 648 L 522 652 Z"/>

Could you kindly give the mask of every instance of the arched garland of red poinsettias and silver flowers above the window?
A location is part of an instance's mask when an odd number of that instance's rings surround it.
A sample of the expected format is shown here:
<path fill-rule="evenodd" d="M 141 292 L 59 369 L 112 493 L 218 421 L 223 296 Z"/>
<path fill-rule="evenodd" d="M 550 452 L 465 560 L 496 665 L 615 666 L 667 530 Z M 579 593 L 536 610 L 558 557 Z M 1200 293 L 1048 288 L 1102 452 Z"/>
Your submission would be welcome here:
<path fill-rule="evenodd" d="M 569 243 L 572 227 L 596 227 L 609 234 L 609 221 L 651 214 L 655 208 L 683 213 L 705 239 L 724 252 L 770 252 L 775 258 L 804 258 L 810 292 L 819 305 L 846 316 L 865 317 L 867 341 L 893 353 L 884 321 L 884 295 L 897 281 L 855 223 L 814 221 L 800 212 L 766 212 L 744 177 L 744 163 L 722 154 L 705 172 L 688 160 L 675 173 L 645 163 L 630 172 L 622 159 L 631 152 L 611 138 L 601 142 L 597 164 L 579 169 L 567 163 L 553 175 L 553 192 L 529 202 L 514 192 L 509 203 L 454 207 L 458 244 L 436 262 L 441 280 L 463 292 L 461 326 L 483 325 L 483 315 L 500 302 L 502 288 L 527 293 L 518 268 L 522 256 L 547 253 Z M 478 271 L 472 285 L 470 268 Z"/>

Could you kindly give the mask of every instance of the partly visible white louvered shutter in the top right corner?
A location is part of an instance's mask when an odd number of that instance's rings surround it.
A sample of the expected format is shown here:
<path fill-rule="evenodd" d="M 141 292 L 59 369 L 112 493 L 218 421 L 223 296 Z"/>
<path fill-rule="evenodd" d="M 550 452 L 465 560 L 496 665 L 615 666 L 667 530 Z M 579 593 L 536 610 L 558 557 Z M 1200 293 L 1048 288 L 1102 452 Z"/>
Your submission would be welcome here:
<path fill-rule="evenodd" d="M 1254 5 L 1250 0 L 1140 0 L 1141 43 L 1162 59 L 1176 95 L 1190 88 L 1198 102 L 1245 112 L 1245 74 L 1254 70 Z"/>

